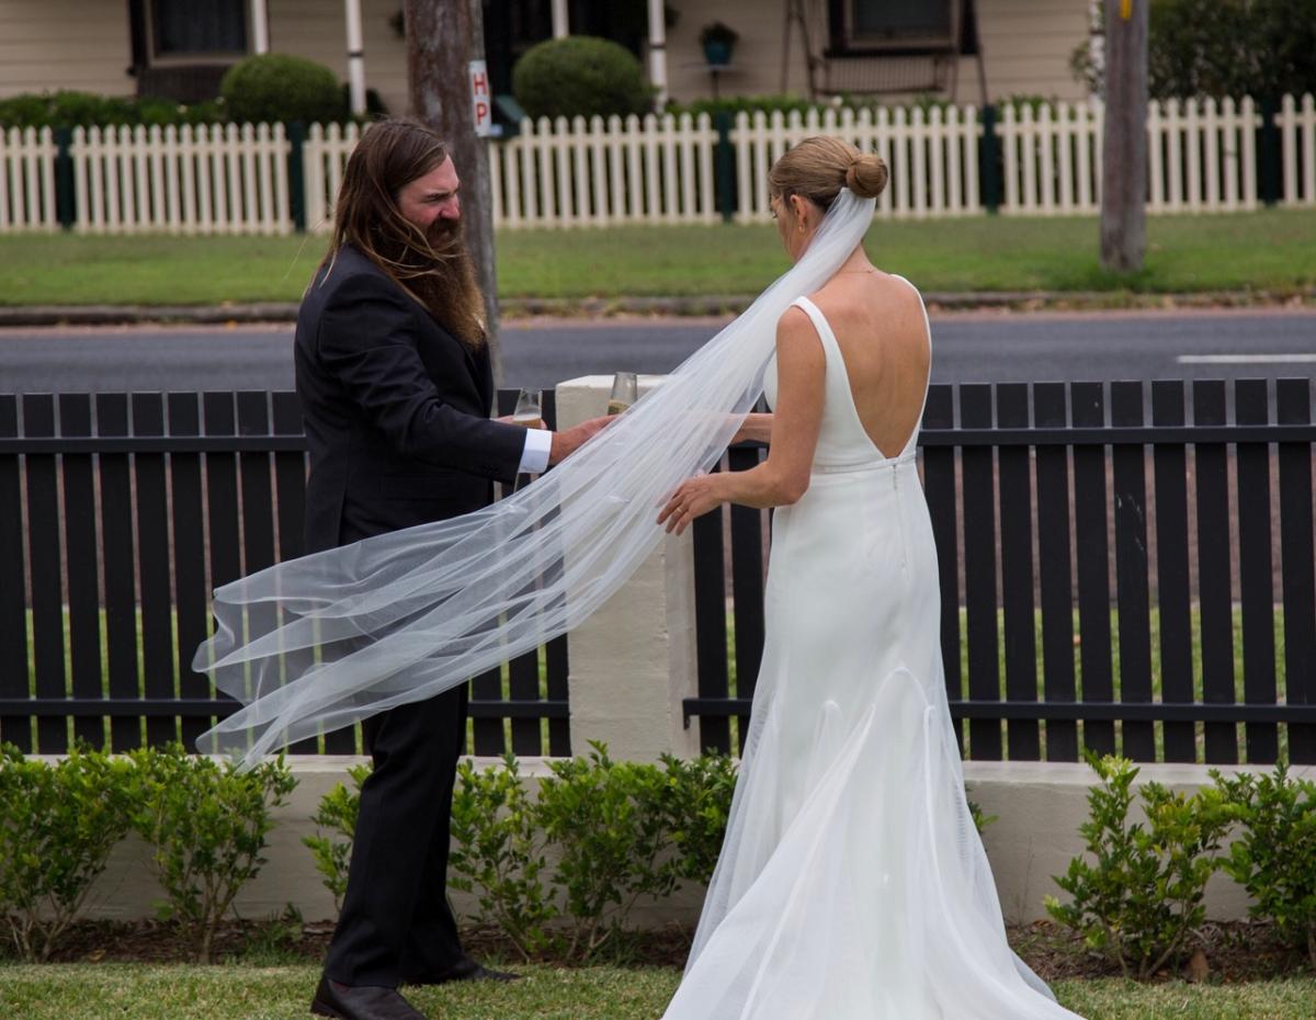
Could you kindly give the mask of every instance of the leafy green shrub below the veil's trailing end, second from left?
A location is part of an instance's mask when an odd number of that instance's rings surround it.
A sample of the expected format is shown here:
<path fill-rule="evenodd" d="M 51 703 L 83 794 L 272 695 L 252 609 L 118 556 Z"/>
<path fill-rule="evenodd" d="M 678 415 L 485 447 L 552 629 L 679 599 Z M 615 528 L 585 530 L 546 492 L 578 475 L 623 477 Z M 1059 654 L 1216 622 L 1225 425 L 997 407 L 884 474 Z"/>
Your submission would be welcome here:
<path fill-rule="evenodd" d="M 282 757 L 249 773 L 179 744 L 129 757 L 137 766 L 132 825 L 153 848 L 167 896 L 161 915 L 191 940 L 197 962 L 209 962 L 216 927 L 265 863 L 270 811 L 297 780 Z"/>

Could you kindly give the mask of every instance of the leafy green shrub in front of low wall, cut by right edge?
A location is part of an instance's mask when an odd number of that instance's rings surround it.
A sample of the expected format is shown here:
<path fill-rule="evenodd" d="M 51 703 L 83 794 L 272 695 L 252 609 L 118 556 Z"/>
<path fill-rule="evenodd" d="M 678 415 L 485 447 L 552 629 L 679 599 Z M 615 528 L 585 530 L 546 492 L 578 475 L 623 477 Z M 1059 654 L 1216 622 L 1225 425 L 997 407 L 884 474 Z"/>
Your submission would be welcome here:
<path fill-rule="evenodd" d="M 1212 775 L 1244 827 L 1225 873 L 1252 895 L 1250 913 L 1305 945 L 1316 967 L 1316 783 L 1290 779 L 1283 763 L 1274 775 Z"/>

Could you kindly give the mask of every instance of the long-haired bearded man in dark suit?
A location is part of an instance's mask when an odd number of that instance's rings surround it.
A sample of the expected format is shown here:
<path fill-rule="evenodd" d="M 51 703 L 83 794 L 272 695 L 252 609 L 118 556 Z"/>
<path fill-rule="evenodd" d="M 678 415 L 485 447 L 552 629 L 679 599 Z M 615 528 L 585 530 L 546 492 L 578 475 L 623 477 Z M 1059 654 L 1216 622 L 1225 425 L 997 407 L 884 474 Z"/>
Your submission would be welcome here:
<path fill-rule="evenodd" d="M 347 161 L 295 340 L 311 447 L 307 553 L 480 509 L 494 479 L 542 471 L 607 422 L 553 433 L 490 420 L 484 305 L 459 184 L 442 141 L 416 121 L 375 124 Z M 372 716 L 363 730 L 374 771 L 311 1012 L 424 1020 L 399 984 L 513 977 L 462 952 L 447 905 L 466 688 Z"/>

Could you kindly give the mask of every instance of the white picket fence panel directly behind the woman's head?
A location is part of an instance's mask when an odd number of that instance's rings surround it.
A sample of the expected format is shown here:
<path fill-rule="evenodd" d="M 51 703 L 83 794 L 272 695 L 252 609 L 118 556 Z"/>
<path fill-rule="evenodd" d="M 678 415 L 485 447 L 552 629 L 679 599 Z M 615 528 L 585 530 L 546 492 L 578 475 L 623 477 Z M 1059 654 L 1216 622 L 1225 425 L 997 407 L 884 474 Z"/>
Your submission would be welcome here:
<path fill-rule="evenodd" d="M 892 217 L 965 216 L 983 211 L 978 195 L 978 137 L 974 107 L 948 107 L 945 115 L 884 107 L 858 112 L 811 109 L 771 116 L 758 111 L 736 116 L 736 186 L 740 222 L 770 216 L 767 170 L 792 145 L 813 134 L 837 134 L 863 151 L 878 153 L 891 180 L 878 197 L 878 215 Z"/>

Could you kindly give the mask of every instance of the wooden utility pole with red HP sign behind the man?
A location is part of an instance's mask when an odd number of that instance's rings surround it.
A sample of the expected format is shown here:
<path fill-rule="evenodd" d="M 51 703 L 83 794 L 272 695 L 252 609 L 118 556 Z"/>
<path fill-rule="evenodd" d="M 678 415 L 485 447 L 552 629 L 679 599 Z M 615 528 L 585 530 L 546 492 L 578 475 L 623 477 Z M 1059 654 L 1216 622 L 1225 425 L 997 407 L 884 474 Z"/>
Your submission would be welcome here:
<path fill-rule="evenodd" d="M 447 142 L 462 182 L 462 224 L 484 291 L 494 378 L 503 379 L 494 262 L 488 141 L 475 133 L 471 62 L 484 61 L 482 0 L 405 0 L 407 83 L 412 115 Z"/>

